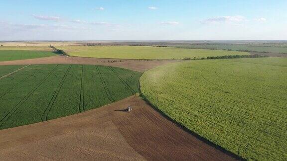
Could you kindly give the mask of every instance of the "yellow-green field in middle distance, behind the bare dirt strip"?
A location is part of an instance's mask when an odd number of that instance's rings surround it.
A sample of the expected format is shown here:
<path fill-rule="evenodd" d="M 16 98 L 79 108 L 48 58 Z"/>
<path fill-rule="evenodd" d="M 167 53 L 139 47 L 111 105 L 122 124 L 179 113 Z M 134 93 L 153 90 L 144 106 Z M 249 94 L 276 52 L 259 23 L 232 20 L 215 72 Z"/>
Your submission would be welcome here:
<path fill-rule="evenodd" d="M 183 59 L 249 55 L 246 52 L 150 46 L 57 46 L 56 48 L 64 50 L 71 56 L 114 59 Z"/>

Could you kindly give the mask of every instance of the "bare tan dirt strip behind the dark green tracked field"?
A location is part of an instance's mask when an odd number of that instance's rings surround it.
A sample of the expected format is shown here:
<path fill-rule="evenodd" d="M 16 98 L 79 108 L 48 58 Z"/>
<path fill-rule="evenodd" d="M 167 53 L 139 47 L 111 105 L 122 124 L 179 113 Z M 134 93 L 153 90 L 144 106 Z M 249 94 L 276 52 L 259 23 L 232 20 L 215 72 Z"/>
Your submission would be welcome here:
<path fill-rule="evenodd" d="M 112 63 L 113 62 L 113 63 Z M 15 61 L 0 62 L 1 65 L 25 65 L 25 64 L 91 64 L 127 68 L 134 71 L 143 72 L 159 65 L 178 62 L 178 60 L 120 60 L 120 59 L 99 59 L 84 57 L 64 57 L 52 56 L 36 59 L 25 59 Z"/>

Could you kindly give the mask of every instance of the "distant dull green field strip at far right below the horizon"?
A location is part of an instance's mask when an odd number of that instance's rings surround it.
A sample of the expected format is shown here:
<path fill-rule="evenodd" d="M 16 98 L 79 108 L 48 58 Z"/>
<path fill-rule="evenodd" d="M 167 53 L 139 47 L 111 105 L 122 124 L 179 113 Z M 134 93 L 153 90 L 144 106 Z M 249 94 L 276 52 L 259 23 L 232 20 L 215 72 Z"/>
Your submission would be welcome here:
<path fill-rule="evenodd" d="M 254 52 L 268 52 L 268 53 L 286 53 L 287 45 L 268 45 L 268 44 L 190 44 L 190 45 L 173 45 L 173 47 L 187 48 L 187 49 L 216 49 L 216 50 L 248 50 Z"/>

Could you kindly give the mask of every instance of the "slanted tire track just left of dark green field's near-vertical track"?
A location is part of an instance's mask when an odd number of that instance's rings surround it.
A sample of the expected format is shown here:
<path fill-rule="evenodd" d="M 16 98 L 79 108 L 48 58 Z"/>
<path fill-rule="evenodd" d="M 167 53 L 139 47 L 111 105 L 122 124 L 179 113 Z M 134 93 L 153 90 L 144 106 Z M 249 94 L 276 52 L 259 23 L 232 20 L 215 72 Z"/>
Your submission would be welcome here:
<path fill-rule="evenodd" d="M 57 89 L 55 90 L 55 92 L 54 92 L 54 94 L 53 94 L 48 106 L 46 107 L 44 113 L 42 114 L 42 117 L 41 117 L 42 121 L 47 121 L 48 114 L 51 111 L 52 106 L 53 106 L 53 104 L 54 104 L 54 102 L 55 102 L 55 100 L 56 100 L 56 98 L 57 98 L 57 96 L 58 96 L 58 94 L 59 94 L 59 92 L 60 92 L 60 90 L 61 90 L 61 88 L 62 88 L 62 86 L 64 84 L 64 81 L 66 80 L 66 78 L 68 76 L 68 73 L 69 73 L 71 68 L 72 68 L 72 65 L 70 65 L 70 67 L 67 69 L 67 71 L 65 72 L 64 77 L 62 78 L 62 80 L 60 81 Z"/>

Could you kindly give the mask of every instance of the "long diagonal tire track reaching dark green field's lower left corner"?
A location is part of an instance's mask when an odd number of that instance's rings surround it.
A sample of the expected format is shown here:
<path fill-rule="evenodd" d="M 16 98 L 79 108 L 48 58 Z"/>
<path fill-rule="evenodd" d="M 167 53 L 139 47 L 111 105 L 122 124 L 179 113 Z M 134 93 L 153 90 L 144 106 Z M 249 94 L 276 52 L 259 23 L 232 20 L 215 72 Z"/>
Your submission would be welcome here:
<path fill-rule="evenodd" d="M 12 114 L 33 94 L 35 90 L 59 67 L 57 65 L 43 80 L 38 82 L 36 86 L 25 97 L 18 102 L 6 115 L 0 120 L 0 127 L 12 116 Z"/>

